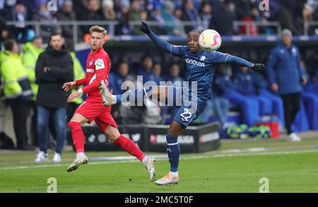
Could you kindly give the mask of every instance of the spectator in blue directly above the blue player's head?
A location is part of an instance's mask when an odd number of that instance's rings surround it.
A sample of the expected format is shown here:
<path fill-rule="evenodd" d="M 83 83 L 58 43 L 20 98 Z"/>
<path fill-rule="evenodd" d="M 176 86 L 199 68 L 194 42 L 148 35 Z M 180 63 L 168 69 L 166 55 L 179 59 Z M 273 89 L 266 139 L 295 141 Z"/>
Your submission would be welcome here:
<path fill-rule="evenodd" d="M 191 21 L 192 25 L 185 26 L 185 31 L 188 33 L 191 30 L 200 29 L 201 27 L 201 18 L 199 12 L 194 7 L 193 0 L 185 0 L 184 8 L 182 11 L 182 20 Z"/>

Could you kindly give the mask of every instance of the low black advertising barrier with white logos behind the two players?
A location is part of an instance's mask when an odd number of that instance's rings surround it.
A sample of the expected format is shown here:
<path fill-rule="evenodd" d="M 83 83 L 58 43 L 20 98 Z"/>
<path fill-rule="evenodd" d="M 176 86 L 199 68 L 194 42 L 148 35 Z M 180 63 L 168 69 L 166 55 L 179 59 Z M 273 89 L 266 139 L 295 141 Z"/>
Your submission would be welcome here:
<path fill-rule="evenodd" d="M 119 131 L 130 138 L 143 151 L 166 152 L 168 125 L 161 124 L 124 124 L 119 125 Z M 83 126 L 86 136 L 86 151 L 116 151 L 122 150 L 113 145 L 98 129 L 98 126 Z M 200 126 L 188 126 L 178 137 L 181 153 L 202 153 L 216 150 L 220 147 L 219 125 L 214 122 Z"/>

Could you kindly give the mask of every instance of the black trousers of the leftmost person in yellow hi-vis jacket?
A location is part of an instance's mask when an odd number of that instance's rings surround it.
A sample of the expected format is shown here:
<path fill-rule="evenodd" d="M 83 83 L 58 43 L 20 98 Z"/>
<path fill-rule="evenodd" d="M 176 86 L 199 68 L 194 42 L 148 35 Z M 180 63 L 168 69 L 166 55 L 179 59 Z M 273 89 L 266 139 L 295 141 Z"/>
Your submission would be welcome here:
<path fill-rule="evenodd" d="M 30 114 L 30 102 L 25 100 L 10 100 L 13 114 L 13 129 L 16 134 L 17 148 L 28 146 L 27 119 Z"/>

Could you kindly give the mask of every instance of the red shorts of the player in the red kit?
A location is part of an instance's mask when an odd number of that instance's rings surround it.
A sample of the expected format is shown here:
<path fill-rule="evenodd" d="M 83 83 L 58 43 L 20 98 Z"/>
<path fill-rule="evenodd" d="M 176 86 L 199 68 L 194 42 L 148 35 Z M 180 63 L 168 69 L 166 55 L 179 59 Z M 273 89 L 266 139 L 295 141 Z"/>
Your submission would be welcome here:
<path fill-rule="evenodd" d="M 112 115 L 110 107 L 103 106 L 100 102 L 83 102 L 75 111 L 88 119 L 88 123 L 95 120 L 100 130 L 105 131 L 108 125 L 118 129 Z"/>

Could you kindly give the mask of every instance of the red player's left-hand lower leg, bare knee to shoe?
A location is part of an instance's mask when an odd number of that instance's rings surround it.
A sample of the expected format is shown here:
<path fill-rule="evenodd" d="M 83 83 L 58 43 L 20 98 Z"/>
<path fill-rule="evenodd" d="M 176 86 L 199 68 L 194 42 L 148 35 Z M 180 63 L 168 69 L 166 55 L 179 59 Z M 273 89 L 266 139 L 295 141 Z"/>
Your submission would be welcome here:
<path fill-rule="evenodd" d="M 84 153 L 85 135 L 81 127 L 81 124 L 86 122 L 88 122 L 88 119 L 78 113 L 75 113 L 69 122 L 69 129 L 71 129 L 73 144 L 76 148 L 76 158 L 67 168 L 67 172 L 76 170 L 79 165 L 83 165 L 88 162 L 88 157 Z"/>

